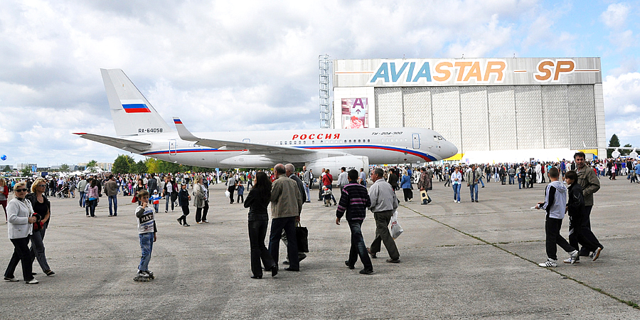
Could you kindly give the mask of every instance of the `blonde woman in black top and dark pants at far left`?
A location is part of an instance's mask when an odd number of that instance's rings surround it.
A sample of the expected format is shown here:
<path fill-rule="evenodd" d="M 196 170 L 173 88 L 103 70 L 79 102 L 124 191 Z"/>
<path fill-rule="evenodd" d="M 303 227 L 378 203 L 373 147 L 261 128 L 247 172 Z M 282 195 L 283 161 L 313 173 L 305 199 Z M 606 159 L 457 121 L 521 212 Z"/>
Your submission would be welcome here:
<path fill-rule="evenodd" d="M 47 181 L 44 178 L 37 178 L 36 181 L 33 181 L 31 193 L 26 196 L 26 199 L 31 202 L 34 215 L 38 218 L 38 222 L 33 223 L 33 234 L 31 235 L 31 263 L 37 258 L 42 271 L 51 277 L 55 272 L 51 271 L 47 263 L 43 243 L 51 216 L 51 203 L 44 195 L 46 188 Z"/>

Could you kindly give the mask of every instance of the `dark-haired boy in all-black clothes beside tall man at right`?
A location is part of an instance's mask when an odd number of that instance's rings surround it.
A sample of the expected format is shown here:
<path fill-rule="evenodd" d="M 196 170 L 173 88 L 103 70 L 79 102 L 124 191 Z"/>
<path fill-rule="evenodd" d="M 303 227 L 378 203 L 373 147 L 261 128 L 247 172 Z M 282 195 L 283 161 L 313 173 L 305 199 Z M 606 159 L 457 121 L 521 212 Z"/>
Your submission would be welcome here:
<path fill-rule="evenodd" d="M 587 247 L 589 252 L 594 252 L 593 260 L 597 260 L 603 246 L 600 244 L 592 231 L 583 225 L 585 212 L 585 198 L 582 196 L 582 186 L 577 183 L 577 173 L 573 170 L 567 171 L 565 181 L 569 185 L 569 203 L 567 211 L 569 214 L 569 244 L 577 249 L 578 244 Z M 565 263 L 580 263 L 580 256 L 575 260 L 570 257 L 563 260 Z"/>

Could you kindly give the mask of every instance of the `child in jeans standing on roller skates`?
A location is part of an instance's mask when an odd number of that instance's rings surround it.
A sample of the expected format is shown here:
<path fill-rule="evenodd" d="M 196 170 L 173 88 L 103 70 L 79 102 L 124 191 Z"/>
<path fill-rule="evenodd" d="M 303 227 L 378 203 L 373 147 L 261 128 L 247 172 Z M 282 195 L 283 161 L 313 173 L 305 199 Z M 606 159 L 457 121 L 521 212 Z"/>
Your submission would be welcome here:
<path fill-rule="evenodd" d="M 146 190 L 140 191 L 138 193 L 138 199 L 140 203 L 142 203 L 136 208 L 138 237 L 140 238 L 142 257 L 140 258 L 138 273 L 134 281 L 148 282 L 149 279 L 155 278 L 154 272 L 149 271 L 149 261 L 151 261 L 151 251 L 154 249 L 154 242 L 156 242 L 156 221 L 154 219 L 154 209 L 149 207 L 149 192 Z"/>

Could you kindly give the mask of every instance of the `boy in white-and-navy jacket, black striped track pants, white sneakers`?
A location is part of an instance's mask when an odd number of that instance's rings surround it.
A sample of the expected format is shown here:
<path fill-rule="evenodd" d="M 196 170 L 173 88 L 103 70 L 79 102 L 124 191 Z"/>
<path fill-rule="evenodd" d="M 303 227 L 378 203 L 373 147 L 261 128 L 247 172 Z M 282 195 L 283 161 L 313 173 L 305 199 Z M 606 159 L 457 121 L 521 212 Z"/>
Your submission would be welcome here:
<path fill-rule="evenodd" d="M 545 201 L 539 202 L 535 206 L 536 209 L 547 211 L 545 222 L 547 261 L 540 263 L 540 267 L 558 267 L 558 256 L 556 255 L 558 247 L 556 245 L 560 245 L 562 250 L 569 253 L 571 263 L 574 263 L 578 256 L 578 251 L 560 235 L 562 218 L 565 218 L 567 208 L 567 187 L 558 181 L 559 176 L 558 168 L 551 168 L 549 171 L 551 182 L 545 188 Z"/>

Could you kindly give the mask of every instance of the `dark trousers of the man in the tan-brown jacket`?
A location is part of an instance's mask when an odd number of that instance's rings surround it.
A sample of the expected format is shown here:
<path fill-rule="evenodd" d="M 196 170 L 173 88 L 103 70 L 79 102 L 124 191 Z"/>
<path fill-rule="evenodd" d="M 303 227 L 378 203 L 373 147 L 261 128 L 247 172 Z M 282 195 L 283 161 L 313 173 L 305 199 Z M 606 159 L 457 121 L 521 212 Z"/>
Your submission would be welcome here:
<path fill-rule="evenodd" d="M 289 267 L 292 270 L 300 269 L 298 260 L 298 240 L 296 238 L 296 217 L 274 218 L 271 220 L 271 234 L 269 235 L 269 252 L 275 264 L 278 264 L 278 255 L 280 250 L 280 238 L 282 238 L 282 230 L 287 235 L 287 257 Z"/>

